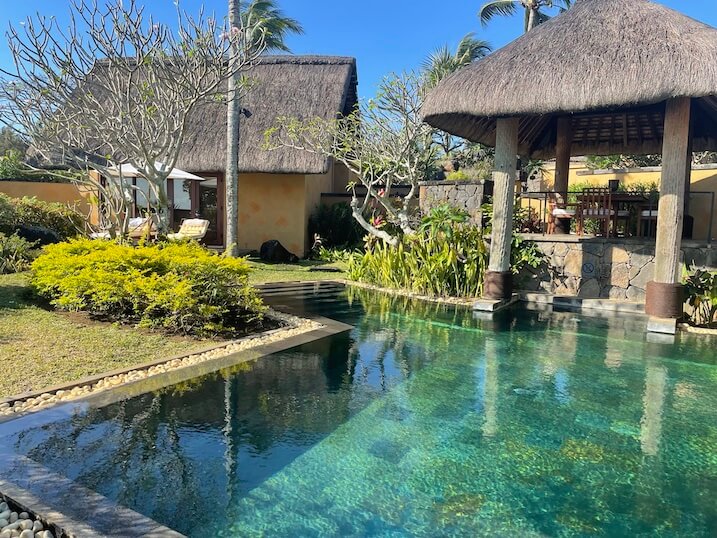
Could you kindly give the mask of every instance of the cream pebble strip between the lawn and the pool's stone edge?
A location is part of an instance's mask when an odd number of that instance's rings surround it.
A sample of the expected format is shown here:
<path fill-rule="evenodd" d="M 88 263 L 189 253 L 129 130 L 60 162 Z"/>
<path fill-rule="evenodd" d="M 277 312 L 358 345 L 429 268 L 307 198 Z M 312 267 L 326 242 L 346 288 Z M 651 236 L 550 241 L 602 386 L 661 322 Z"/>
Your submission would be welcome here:
<path fill-rule="evenodd" d="M 76 385 L 72 388 L 50 390 L 31 396 L 18 396 L 0 403 L 0 417 L 6 417 L 18 413 L 34 412 L 46 409 L 59 403 L 66 403 L 72 400 L 79 400 L 90 395 L 109 390 L 126 383 L 146 379 L 153 375 L 163 374 L 186 366 L 191 366 L 204 361 L 226 357 L 233 353 L 246 351 L 265 344 L 272 344 L 285 338 L 298 336 L 323 327 L 320 323 L 309 319 L 292 316 L 275 310 L 269 310 L 266 317 L 284 324 L 284 327 L 249 335 L 239 340 L 231 341 L 225 345 L 217 346 L 208 351 L 193 353 L 185 357 L 167 359 L 164 362 L 154 363 L 147 366 L 139 366 L 123 373 L 100 377 L 91 382 Z M 70 385 L 71 386 L 71 385 Z M 0 538 L 3 538 L 0 535 Z"/>

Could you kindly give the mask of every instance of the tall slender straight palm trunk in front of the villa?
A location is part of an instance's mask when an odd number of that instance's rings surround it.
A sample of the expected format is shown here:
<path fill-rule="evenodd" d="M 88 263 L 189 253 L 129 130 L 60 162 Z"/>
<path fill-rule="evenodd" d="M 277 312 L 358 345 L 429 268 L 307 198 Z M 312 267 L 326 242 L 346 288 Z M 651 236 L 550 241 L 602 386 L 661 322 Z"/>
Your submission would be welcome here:
<path fill-rule="evenodd" d="M 233 40 L 230 69 L 233 71 L 239 61 L 239 45 L 233 35 L 233 29 L 241 25 L 239 0 L 229 0 L 229 34 Z M 239 121 L 241 103 L 237 88 L 239 73 L 228 80 L 227 89 L 227 166 L 226 166 L 226 253 L 239 255 Z"/>

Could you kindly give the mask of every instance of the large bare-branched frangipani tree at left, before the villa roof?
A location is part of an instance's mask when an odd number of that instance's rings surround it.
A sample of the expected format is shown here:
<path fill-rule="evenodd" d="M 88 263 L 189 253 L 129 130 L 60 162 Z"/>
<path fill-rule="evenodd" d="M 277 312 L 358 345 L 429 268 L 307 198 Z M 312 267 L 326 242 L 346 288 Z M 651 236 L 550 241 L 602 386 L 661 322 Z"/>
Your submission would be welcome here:
<path fill-rule="evenodd" d="M 3 71 L 0 119 L 47 162 L 107 178 L 129 163 L 146 178 L 160 231 L 169 224 L 166 179 L 179 157 L 191 114 L 225 98 L 229 77 L 251 68 L 263 52 L 260 21 L 229 27 L 177 9 L 174 28 L 146 15 L 136 0 L 72 0 L 70 22 L 28 18 L 11 27 L 14 60 Z M 227 62 L 230 48 L 238 59 Z M 241 79 L 238 94 L 250 84 Z M 96 176 L 95 176 L 96 177 Z M 122 178 L 110 189 L 83 179 L 120 206 Z M 118 194 L 120 193 L 120 194 Z"/>

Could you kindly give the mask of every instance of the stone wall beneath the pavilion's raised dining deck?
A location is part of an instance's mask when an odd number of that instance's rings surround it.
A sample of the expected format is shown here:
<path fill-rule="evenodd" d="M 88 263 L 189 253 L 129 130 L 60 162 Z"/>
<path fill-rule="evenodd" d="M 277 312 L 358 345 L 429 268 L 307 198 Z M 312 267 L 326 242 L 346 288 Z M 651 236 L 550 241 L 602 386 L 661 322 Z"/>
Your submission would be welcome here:
<path fill-rule="evenodd" d="M 547 236 L 526 236 L 545 254 L 539 269 L 520 276 L 527 291 L 584 298 L 606 298 L 644 302 L 645 288 L 655 272 L 655 246 L 637 240 L 575 238 L 550 241 Z M 682 261 L 717 270 L 717 252 L 706 245 L 687 242 Z"/>

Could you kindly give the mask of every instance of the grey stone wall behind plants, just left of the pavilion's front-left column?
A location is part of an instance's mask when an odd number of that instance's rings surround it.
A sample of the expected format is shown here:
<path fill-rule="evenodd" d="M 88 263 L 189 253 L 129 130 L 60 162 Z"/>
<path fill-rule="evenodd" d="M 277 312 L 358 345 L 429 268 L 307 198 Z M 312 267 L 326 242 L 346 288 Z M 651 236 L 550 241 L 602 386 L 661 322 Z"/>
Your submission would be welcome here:
<path fill-rule="evenodd" d="M 421 213 L 426 214 L 441 204 L 450 204 L 465 209 L 471 222 L 481 225 L 480 207 L 485 196 L 493 192 L 491 181 L 422 181 L 420 184 L 419 204 Z"/>

